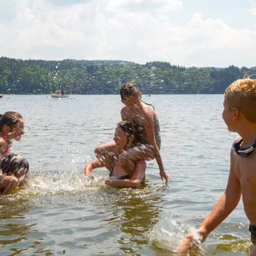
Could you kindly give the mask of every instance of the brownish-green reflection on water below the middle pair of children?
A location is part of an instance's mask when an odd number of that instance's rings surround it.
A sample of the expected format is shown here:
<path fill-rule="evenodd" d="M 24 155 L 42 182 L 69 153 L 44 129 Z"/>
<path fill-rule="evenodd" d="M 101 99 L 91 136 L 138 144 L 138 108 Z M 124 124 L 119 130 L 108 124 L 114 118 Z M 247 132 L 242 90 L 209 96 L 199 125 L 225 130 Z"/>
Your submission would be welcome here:
<path fill-rule="evenodd" d="M 146 235 L 158 221 L 162 200 L 151 190 L 128 190 L 125 198 L 112 203 L 113 216 L 104 221 L 114 223 L 113 228 L 122 232 L 117 241 L 125 254 L 135 254 L 148 245 Z"/>

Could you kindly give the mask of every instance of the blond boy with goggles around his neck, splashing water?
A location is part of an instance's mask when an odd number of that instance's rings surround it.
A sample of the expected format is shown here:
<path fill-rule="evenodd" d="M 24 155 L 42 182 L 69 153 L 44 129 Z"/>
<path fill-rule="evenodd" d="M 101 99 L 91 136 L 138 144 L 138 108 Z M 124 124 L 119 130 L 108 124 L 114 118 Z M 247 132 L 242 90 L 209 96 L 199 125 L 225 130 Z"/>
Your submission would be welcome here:
<path fill-rule="evenodd" d="M 256 79 L 238 79 L 225 89 L 222 118 L 228 131 L 240 137 L 232 144 L 230 171 L 225 193 L 208 217 L 197 229 L 201 241 L 214 230 L 238 205 L 242 196 L 245 215 L 250 221 L 252 248 L 256 255 Z M 186 241 L 178 249 L 179 255 L 193 255 L 194 236 L 186 235 Z"/>

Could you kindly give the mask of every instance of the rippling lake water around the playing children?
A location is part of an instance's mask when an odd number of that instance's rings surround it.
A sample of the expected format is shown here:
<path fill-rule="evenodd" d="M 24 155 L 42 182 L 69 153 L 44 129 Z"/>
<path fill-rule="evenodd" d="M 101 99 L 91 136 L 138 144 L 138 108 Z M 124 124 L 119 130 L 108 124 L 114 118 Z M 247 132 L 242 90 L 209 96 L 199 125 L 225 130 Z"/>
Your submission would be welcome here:
<path fill-rule="evenodd" d="M 143 97 L 160 119 L 162 183 L 147 162 L 138 190 L 105 186 L 108 171 L 83 175 L 98 144 L 112 141 L 119 96 L 5 96 L 0 112 L 17 111 L 25 134 L 13 153 L 30 163 L 28 187 L 0 196 L 1 255 L 174 255 L 183 235 L 209 214 L 225 190 L 237 134 L 222 121 L 222 95 Z M 248 219 L 240 202 L 209 235 L 203 255 L 245 255 Z"/>

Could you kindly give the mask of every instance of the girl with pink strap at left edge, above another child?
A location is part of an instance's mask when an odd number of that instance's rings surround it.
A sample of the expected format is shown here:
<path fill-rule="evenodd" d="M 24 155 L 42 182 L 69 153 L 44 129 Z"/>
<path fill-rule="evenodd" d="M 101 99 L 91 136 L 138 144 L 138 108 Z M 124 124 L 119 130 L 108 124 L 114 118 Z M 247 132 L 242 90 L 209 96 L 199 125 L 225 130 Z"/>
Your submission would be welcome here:
<path fill-rule="evenodd" d="M 24 119 L 18 112 L 0 115 L 0 161 L 10 152 L 11 142 L 19 141 L 24 134 Z"/>

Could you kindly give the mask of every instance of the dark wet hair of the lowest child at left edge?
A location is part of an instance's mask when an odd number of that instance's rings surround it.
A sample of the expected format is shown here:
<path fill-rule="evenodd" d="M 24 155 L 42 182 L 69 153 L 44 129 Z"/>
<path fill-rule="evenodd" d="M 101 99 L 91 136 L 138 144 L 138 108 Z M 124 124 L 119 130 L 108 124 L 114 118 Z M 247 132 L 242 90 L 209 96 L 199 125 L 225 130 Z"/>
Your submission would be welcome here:
<path fill-rule="evenodd" d="M 11 173 L 17 175 L 19 172 L 28 173 L 28 160 L 18 154 L 8 154 L 1 159 L 1 169 L 3 174 Z"/>

